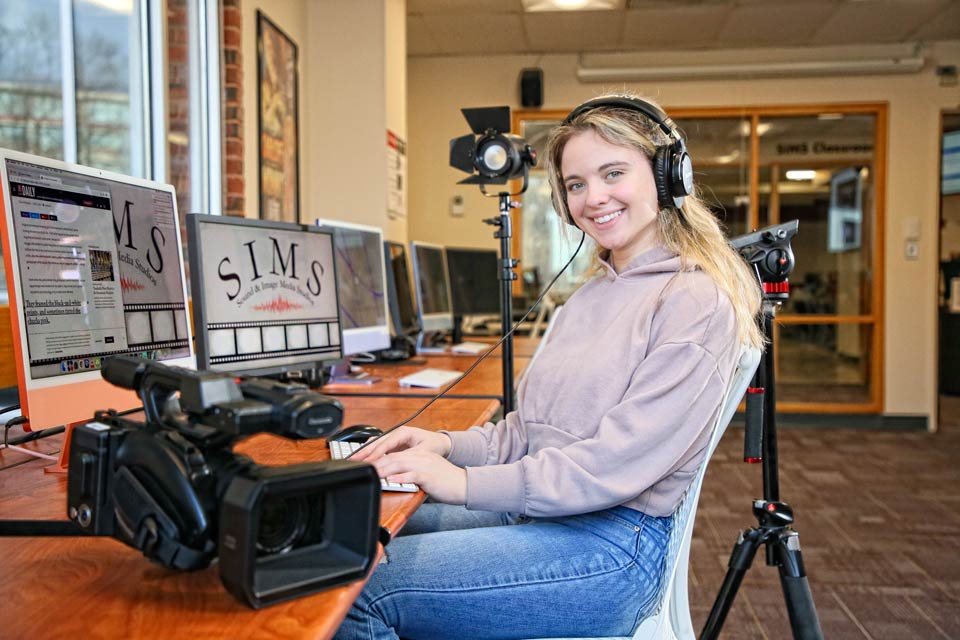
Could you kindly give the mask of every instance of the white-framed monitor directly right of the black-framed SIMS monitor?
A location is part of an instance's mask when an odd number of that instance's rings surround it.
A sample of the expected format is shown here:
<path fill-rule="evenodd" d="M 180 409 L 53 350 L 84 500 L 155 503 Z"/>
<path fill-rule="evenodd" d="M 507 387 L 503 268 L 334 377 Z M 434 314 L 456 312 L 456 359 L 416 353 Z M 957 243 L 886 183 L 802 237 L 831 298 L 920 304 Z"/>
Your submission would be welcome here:
<path fill-rule="evenodd" d="M 343 355 L 390 347 L 383 232 L 376 227 L 318 219 L 333 232 L 343 323 Z"/>

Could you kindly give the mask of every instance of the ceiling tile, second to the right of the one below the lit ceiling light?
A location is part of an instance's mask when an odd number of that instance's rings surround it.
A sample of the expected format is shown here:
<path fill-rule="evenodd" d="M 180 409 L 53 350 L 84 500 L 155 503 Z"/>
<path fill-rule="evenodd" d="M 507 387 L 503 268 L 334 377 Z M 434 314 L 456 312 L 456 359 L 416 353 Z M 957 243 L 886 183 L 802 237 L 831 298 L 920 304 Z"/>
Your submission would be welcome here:
<path fill-rule="evenodd" d="M 837 11 L 835 2 L 793 2 L 739 5 L 718 34 L 720 47 L 805 44 Z"/>

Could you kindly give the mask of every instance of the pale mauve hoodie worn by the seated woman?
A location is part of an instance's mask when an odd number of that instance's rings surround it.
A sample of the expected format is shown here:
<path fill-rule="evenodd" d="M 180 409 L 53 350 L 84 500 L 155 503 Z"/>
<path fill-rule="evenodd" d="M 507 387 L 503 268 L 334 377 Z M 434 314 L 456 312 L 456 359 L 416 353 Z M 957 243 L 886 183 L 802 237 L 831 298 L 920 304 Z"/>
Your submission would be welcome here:
<path fill-rule="evenodd" d="M 564 305 L 516 411 L 445 432 L 468 509 L 667 516 L 683 497 L 739 353 L 733 306 L 662 247 L 603 266 Z"/>

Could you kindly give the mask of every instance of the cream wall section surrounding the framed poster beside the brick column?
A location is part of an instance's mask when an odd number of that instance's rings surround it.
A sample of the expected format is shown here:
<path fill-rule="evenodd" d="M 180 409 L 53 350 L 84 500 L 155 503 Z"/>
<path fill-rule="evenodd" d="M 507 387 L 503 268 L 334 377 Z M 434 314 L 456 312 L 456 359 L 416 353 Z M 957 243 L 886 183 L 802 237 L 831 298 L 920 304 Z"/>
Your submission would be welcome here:
<path fill-rule="evenodd" d="M 386 130 L 407 136 L 405 1 L 243 3 L 248 217 L 257 217 L 259 201 L 257 9 L 298 46 L 300 222 L 349 220 L 405 241 L 405 219 L 390 219 L 386 211 Z"/>

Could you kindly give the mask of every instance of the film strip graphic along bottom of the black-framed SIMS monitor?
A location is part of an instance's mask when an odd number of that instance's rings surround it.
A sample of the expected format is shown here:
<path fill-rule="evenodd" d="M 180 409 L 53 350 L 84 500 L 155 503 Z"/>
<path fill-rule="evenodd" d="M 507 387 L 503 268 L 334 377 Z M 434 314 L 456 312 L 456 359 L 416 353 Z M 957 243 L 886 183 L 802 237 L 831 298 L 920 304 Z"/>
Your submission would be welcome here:
<path fill-rule="evenodd" d="M 340 320 L 301 318 L 207 325 L 210 364 L 340 353 Z"/>

